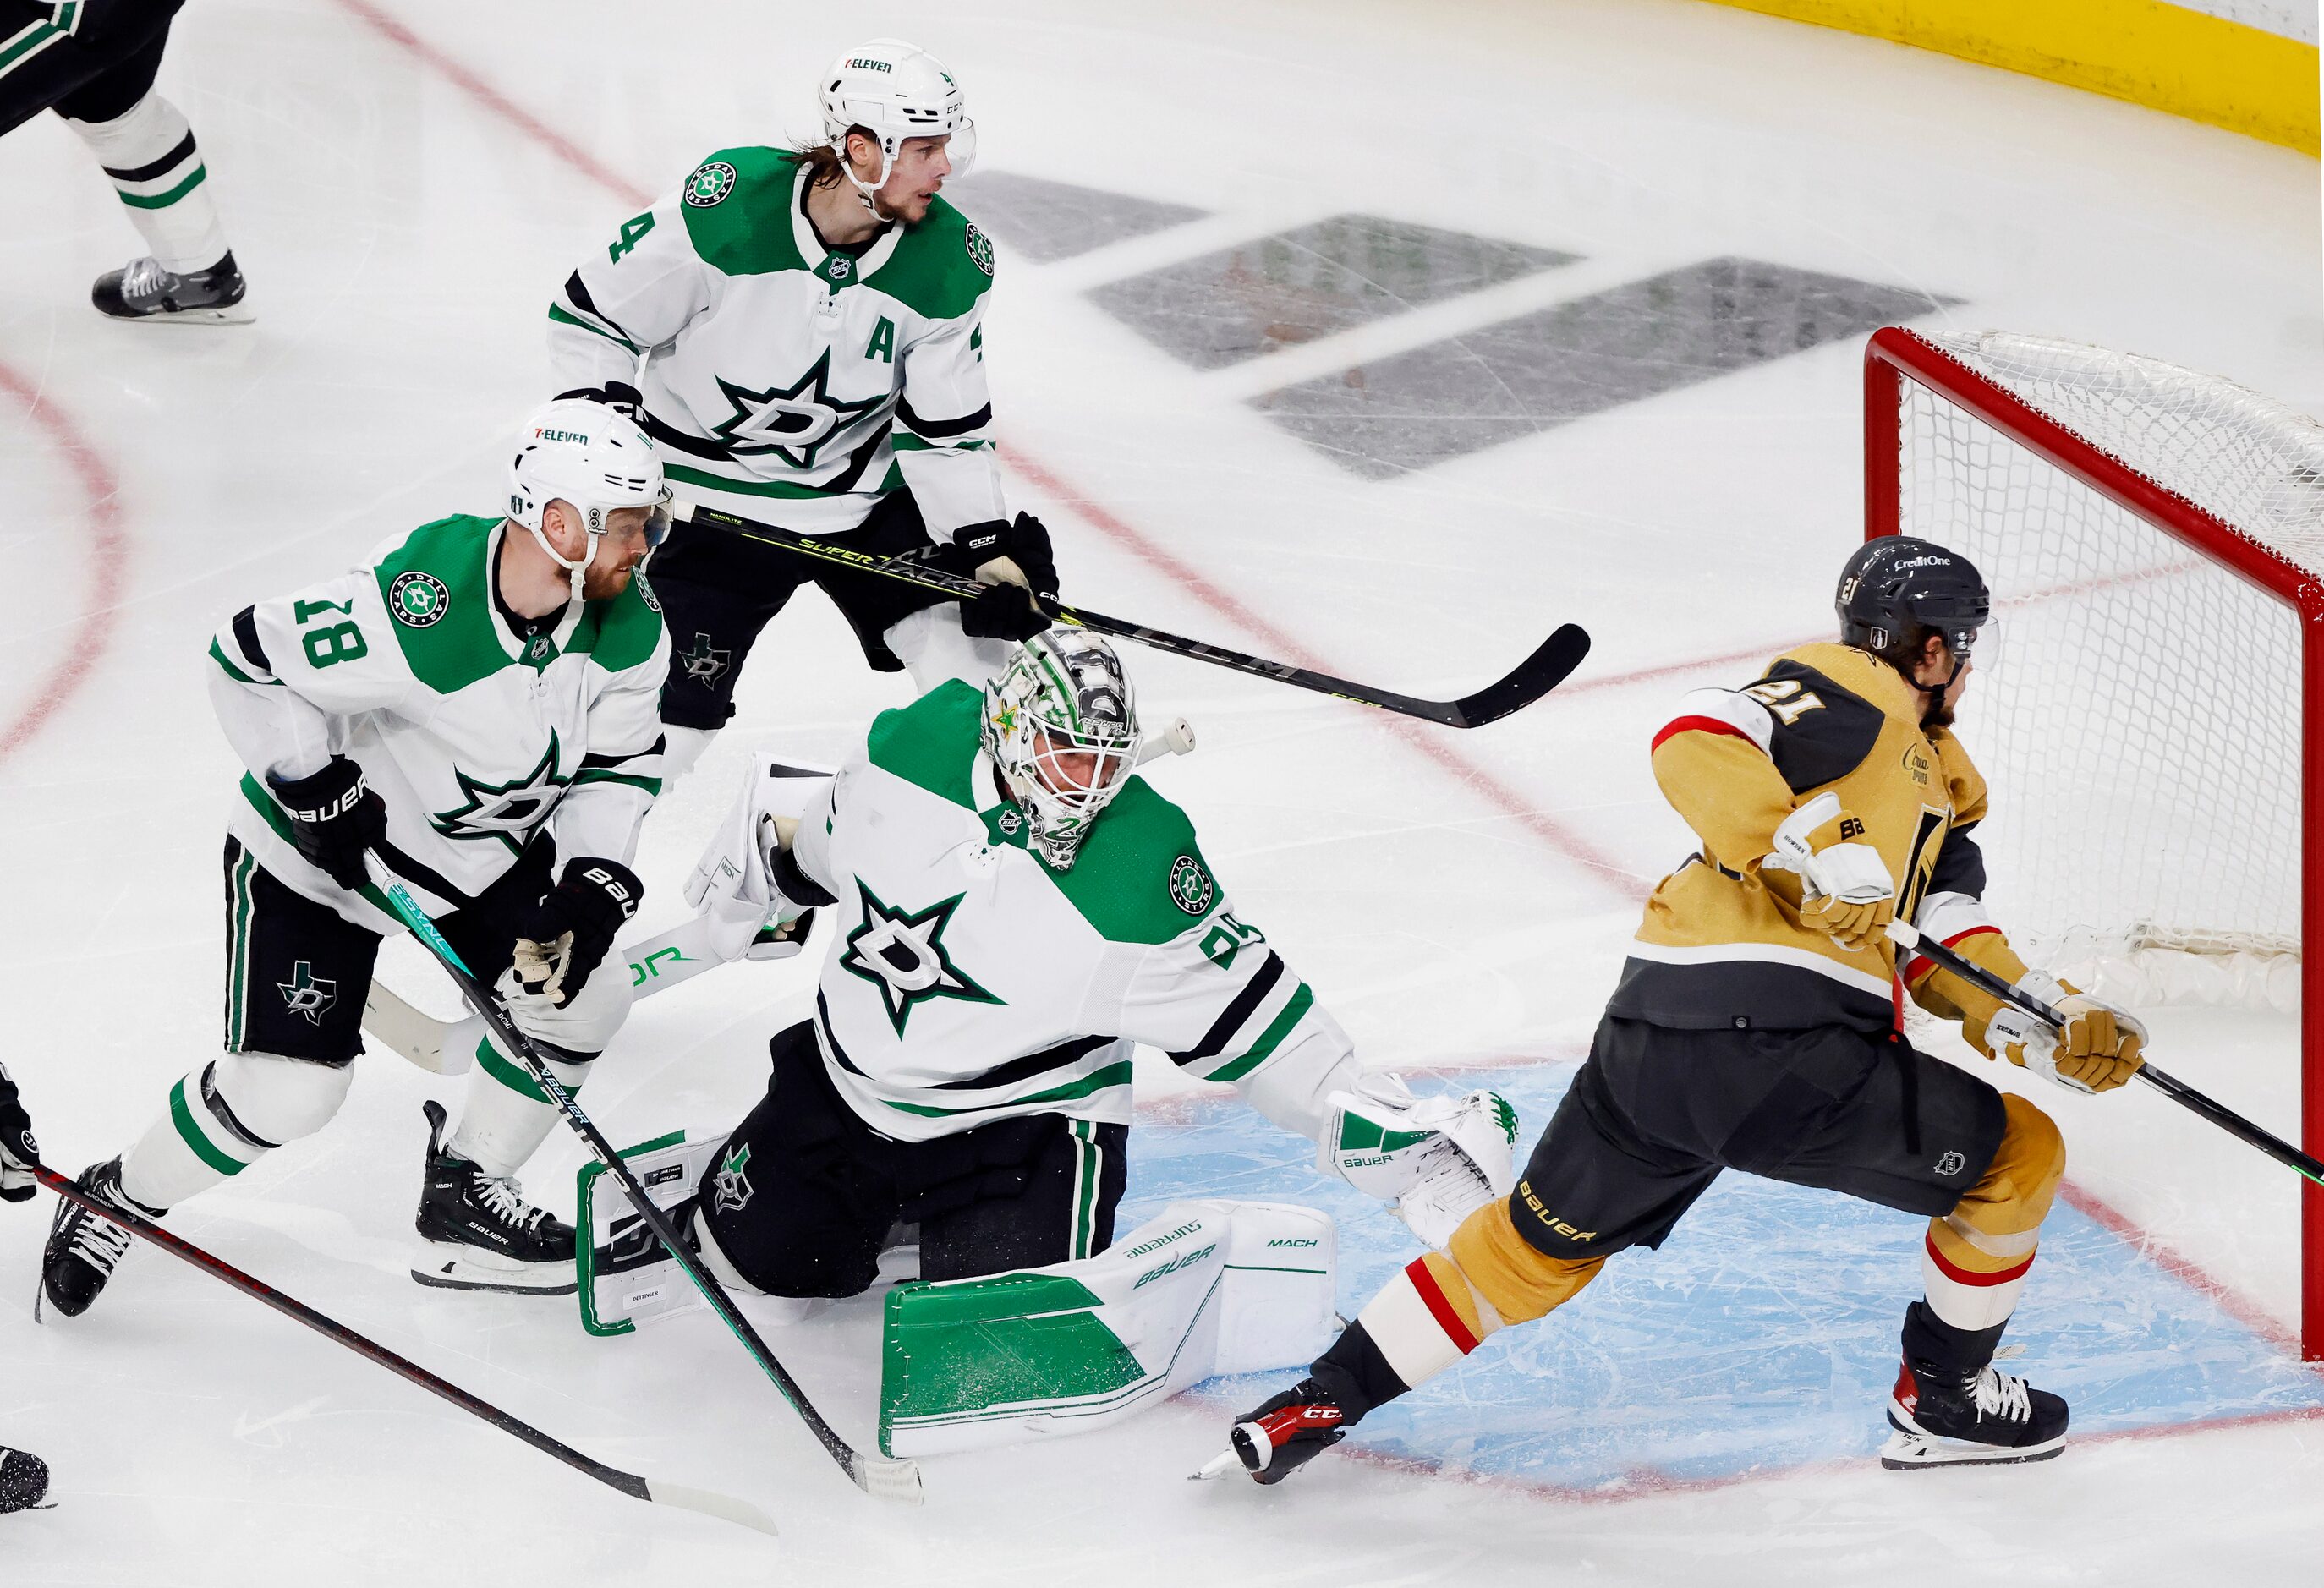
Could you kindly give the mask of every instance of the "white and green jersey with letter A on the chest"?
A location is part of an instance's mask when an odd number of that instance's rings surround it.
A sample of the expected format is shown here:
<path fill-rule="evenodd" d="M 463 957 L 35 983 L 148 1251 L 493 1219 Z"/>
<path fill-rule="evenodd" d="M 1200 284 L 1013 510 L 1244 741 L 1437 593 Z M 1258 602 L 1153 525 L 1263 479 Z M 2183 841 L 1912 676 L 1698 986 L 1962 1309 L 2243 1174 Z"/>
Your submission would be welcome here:
<path fill-rule="evenodd" d="M 827 253 L 806 163 L 720 149 L 621 223 L 548 309 L 565 388 L 634 384 L 679 495 L 806 535 L 911 486 L 944 544 L 1004 518 L 985 395 L 992 242 L 941 198 L 862 253 Z"/>

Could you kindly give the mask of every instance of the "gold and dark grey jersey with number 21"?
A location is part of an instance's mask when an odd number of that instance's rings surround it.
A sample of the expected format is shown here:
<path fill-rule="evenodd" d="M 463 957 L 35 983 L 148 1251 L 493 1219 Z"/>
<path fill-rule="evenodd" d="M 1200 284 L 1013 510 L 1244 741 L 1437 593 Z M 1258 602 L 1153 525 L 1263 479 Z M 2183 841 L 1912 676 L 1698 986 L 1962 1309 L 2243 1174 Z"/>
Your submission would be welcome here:
<path fill-rule="evenodd" d="M 1762 870 L 1776 825 L 1824 788 L 1887 863 L 1899 918 L 2010 981 L 2024 974 L 1980 902 L 1985 779 L 1948 730 L 1922 732 L 1920 695 L 1875 656 L 1808 644 L 1741 691 L 1690 693 L 1655 735 L 1655 779 L 1703 846 L 1645 902 L 1608 1014 L 1692 1030 L 1892 1025 L 1892 944 L 1841 949 L 1801 925 L 1799 879 Z M 1952 977 L 1927 960 L 1903 970 L 1920 1002 L 1961 1014 Z"/>

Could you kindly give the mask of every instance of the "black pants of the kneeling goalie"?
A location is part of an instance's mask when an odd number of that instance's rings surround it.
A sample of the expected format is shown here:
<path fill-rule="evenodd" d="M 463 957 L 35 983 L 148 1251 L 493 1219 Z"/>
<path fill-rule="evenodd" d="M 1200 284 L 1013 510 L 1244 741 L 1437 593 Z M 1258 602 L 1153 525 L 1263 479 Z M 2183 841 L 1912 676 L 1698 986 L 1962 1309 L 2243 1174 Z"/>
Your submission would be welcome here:
<path fill-rule="evenodd" d="M 860 1295 L 897 1223 L 920 1279 L 974 1279 L 1113 1244 L 1127 1125 L 1030 1114 L 937 1142 L 890 1142 L 832 1090 L 813 1023 L 776 1032 L 767 1095 L 702 1183 L 709 1230 L 769 1295 Z"/>

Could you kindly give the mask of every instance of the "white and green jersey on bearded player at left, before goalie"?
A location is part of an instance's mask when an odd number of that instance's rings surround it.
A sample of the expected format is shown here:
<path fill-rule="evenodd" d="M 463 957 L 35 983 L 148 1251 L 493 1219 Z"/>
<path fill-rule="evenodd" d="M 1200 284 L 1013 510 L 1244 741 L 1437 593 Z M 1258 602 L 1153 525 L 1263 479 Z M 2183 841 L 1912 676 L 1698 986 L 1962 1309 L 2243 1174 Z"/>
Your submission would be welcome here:
<path fill-rule="evenodd" d="M 211 700 L 251 772 L 230 828 L 293 890 L 374 932 L 383 900 L 307 865 L 267 793 L 363 765 L 388 807 L 390 867 L 430 911 L 507 872 L 555 818 L 558 851 L 627 863 L 660 793 L 662 611 L 641 577 L 516 635 L 493 602 L 497 518 L 442 518 L 374 563 L 237 611 L 209 644 Z"/>

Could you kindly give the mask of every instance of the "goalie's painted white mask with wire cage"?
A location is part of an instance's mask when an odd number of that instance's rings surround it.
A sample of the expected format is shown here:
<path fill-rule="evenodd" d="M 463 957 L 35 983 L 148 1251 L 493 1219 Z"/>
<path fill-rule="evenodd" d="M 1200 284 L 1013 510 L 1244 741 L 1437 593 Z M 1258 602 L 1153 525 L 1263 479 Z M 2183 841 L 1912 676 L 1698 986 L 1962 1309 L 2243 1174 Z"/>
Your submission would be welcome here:
<path fill-rule="evenodd" d="M 1139 707 L 1122 660 L 1088 630 L 1034 635 L 985 684 L 983 737 L 1025 811 L 1027 839 L 1069 870 L 1136 765 Z"/>

